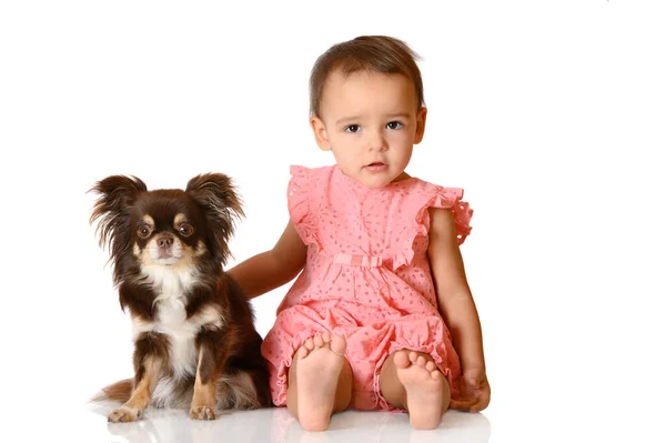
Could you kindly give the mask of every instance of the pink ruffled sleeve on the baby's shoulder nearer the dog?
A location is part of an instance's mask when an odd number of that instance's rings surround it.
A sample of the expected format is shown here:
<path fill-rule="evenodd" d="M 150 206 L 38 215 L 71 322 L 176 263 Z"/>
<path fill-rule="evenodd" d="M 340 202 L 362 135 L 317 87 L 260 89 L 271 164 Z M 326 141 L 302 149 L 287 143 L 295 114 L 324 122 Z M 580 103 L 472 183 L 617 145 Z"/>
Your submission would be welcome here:
<path fill-rule="evenodd" d="M 286 195 L 289 215 L 303 243 L 319 244 L 316 238 L 316 213 L 311 209 L 311 170 L 293 165 Z M 321 246 L 321 245 L 320 245 Z"/>

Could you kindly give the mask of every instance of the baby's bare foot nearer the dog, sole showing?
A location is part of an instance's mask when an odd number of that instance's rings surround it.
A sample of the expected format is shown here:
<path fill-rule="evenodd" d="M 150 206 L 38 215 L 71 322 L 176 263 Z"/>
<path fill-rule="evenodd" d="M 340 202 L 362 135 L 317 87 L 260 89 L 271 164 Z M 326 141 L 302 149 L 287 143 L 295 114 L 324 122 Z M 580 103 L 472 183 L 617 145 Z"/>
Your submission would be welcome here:
<path fill-rule="evenodd" d="M 329 427 L 345 350 L 344 338 L 325 332 L 296 351 L 299 422 L 306 431 Z"/>

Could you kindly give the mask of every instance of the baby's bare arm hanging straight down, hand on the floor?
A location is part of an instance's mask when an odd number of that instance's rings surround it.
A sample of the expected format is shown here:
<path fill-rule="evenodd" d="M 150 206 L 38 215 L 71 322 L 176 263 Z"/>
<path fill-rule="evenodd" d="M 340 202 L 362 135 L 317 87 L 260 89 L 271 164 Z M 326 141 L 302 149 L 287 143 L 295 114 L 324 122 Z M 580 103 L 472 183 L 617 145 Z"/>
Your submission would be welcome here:
<path fill-rule="evenodd" d="M 440 313 L 451 331 L 453 346 L 461 358 L 464 381 L 475 399 L 465 405 L 481 411 L 490 402 L 490 385 L 485 375 L 481 321 L 467 284 L 455 222 L 446 209 L 431 208 L 430 215 L 427 253 Z M 465 405 L 461 404 L 461 407 L 467 409 Z"/>

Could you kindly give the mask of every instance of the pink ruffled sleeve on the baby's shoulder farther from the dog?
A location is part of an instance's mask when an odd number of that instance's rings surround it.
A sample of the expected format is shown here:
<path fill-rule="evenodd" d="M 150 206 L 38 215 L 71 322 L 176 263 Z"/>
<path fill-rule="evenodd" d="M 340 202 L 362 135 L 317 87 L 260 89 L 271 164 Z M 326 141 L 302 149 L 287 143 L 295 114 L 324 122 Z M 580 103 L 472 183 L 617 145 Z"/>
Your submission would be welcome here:
<path fill-rule="evenodd" d="M 472 226 L 470 221 L 474 211 L 470 208 L 470 203 L 463 201 L 464 190 L 461 188 L 444 188 L 438 185 L 430 185 L 422 190 L 418 201 L 418 210 L 412 225 L 408 228 L 407 241 L 403 248 L 403 252 L 394 259 L 393 269 L 408 264 L 414 258 L 414 240 L 417 235 L 427 235 L 430 230 L 430 213 L 428 208 L 451 209 L 458 244 L 463 244 Z"/>

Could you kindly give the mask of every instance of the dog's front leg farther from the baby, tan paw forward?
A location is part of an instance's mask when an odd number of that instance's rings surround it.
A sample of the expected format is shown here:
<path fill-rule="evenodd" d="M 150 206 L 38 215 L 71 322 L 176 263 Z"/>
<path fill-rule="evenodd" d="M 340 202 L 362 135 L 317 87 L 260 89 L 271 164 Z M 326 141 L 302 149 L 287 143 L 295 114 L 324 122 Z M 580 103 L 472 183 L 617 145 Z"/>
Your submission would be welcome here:
<path fill-rule="evenodd" d="M 154 332 L 144 332 L 134 343 L 134 389 L 132 395 L 119 410 L 109 415 L 109 421 L 133 422 L 143 415 L 150 405 L 158 380 L 164 374 L 169 358 L 169 338 Z"/>

